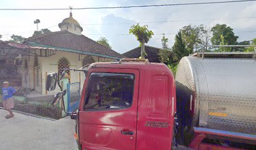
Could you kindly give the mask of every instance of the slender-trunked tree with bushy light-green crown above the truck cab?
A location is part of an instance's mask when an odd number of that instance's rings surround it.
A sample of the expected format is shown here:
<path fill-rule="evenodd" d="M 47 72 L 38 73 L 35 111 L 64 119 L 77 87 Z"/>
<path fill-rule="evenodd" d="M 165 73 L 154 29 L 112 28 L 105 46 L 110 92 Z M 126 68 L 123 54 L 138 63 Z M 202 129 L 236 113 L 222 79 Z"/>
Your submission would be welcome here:
<path fill-rule="evenodd" d="M 141 58 L 144 59 L 146 52 L 145 52 L 145 43 L 151 39 L 154 33 L 149 29 L 147 29 L 147 25 L 139 26 L 139 23 L 136 25 L 131 26 L 129 30 L 129 34 L 134 34 L 137 37 L 137 41 L 141 44 Z"/>

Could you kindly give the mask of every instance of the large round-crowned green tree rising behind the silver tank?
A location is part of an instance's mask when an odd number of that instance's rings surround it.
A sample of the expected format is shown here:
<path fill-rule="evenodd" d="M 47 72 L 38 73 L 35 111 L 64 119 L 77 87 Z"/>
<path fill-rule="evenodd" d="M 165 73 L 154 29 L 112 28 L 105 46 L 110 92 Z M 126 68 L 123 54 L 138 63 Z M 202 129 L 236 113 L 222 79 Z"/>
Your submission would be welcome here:
<path fill-rule="evenodd" d="M 221 35 L 223 36 L 223 40 L 227 42 L 226 44 L 237 44 L 238 36 L 235 36 L 233 29 L 227 26 L 227 24 L 216 24 L 211 28 L 211 32 L 213 32 L 213 36 L 211 37 L 211 43 L 213 45 L 220 45 Z"/>

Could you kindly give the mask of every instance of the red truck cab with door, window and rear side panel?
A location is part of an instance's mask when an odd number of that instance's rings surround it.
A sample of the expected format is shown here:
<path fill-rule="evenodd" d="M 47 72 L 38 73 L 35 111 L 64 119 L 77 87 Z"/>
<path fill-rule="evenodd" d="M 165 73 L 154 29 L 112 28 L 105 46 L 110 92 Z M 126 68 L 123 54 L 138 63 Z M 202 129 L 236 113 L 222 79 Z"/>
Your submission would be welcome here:
<path fill-rule="evenodd" d="M 77 115 L 78 147 L 171 149 L 175 93 L 164 64 L 91 64 Z"/>

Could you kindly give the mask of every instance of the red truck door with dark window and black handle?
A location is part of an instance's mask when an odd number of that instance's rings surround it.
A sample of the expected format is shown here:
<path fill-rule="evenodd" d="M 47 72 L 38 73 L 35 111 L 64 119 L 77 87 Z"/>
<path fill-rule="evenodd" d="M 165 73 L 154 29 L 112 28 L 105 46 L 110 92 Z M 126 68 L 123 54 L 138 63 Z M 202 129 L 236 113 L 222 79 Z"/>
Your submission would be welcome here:
<path fill-rule="evenodd" d="M 91 69 L 79 113 L 82 149 L 136 149 L 139 71 Z"/>

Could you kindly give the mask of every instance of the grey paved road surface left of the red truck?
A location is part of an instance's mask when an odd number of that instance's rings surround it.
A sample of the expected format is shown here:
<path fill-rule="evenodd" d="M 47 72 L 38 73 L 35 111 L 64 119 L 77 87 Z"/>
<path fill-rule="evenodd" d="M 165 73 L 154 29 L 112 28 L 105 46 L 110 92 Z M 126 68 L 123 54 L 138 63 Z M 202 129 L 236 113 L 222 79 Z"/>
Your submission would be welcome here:
<path fill-rule="evenodd" d="M 73 138 L 75 121 L 70 117 L 51 121 L 14 113 L 5 119 L 7 112 L 0 109 L 0 149 L 76 149 Z"/>

